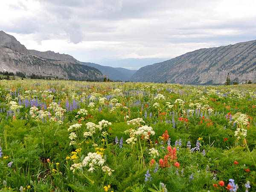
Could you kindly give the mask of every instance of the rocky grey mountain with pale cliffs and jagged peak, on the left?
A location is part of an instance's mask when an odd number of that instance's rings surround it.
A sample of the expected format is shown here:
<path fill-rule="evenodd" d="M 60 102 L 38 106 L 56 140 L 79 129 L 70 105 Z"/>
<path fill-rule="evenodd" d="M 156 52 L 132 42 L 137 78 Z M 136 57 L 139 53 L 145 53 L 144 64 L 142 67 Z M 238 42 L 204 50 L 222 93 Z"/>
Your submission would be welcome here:
<path fill-rule="evenodd" d="M 73 80 L 102 80 L 106 77 L 100 70 L 86 66 L 70 55 L 28 50 L 3 31 L 0 31 L 0 71 Z"/>

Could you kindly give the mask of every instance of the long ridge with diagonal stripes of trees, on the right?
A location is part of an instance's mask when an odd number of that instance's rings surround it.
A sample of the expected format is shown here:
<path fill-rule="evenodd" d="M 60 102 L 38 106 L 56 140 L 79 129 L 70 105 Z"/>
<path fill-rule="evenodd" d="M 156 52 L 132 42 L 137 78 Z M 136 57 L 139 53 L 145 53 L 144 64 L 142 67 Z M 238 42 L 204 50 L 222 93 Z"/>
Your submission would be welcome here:
<path fill-rule="evenodd" d="M 198 49 L 167 61 L 141 67 L 132 81 L 179 84 L 224 84 L 256 81 L 256 40 Z"/>

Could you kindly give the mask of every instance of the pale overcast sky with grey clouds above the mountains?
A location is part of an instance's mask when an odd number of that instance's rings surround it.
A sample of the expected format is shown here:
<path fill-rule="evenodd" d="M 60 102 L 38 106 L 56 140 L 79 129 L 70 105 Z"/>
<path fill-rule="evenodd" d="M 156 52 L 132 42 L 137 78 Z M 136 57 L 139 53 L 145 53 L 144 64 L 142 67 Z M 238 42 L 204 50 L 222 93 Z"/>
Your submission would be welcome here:
<path fill-rule="evenodd" d="M 255 40 L 255 8 L 256 0 L 0 0 L 0 30 L 27 49 L 138 69 Z"/>

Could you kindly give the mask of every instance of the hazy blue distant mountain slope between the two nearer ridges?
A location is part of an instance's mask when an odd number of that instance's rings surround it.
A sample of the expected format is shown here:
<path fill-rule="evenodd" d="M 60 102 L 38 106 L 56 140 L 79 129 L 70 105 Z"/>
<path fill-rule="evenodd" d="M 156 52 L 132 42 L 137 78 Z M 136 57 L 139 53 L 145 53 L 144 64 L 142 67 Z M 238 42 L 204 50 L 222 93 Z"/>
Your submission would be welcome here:
<path fill-rule="evenodd" d="M 100 70 L 104 75 L 108 76 L 111 80 L 120 80 L 120 81 L 130 81 L 131 76 L 137 70 L 128 70 L 121 67 L 109 67 L 109 66 L 102 66 L 95 63 L 86 63 L 82 62 L 85 65 L 90 67 L 95 67 L 96 69 Z"/>

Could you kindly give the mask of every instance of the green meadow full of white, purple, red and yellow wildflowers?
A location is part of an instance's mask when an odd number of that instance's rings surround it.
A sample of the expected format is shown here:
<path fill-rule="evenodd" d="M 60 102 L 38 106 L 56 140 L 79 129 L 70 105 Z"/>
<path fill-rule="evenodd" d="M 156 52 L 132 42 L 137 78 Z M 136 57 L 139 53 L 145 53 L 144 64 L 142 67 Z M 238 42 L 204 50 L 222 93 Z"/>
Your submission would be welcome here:
<path fill-rule="evenodd" d="M 255 192 L 256 85 L 0 81 L 0 191 Z"/>

